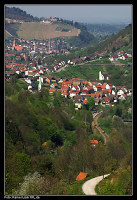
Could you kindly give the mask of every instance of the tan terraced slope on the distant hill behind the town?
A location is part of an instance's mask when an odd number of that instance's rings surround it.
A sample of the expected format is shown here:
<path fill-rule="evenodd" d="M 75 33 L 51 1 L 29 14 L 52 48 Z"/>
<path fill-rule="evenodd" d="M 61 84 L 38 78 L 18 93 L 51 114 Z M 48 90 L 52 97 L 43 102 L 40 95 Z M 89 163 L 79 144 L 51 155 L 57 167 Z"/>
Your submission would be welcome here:
<path fill-rule="evenodd" d="M 17 34 L 20 38 L 26 40 L 39 40 L 51 39 L 56 37 L 78 36 L 80 34 L 80 29 L 74 28 L 71 25 L 24 22 L 21 24 L 19 31 L 17 31 Z"/>

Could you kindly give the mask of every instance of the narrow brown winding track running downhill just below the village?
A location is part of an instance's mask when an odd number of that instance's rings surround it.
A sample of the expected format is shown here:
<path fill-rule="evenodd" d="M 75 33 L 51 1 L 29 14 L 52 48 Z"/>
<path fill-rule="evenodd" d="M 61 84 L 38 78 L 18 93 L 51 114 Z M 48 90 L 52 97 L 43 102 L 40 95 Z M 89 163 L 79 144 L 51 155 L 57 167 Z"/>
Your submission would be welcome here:
<path fill-rule="evenodd" d="M 93 121 L 92 121 L 92 130 L 93 133 L 100 133 L 104 137 L 104 145 L 106 145 L 109 136 L 98 126 L 97 120 L 98 118 L 102 115 L 103 111 L 97 113 L 96 115 L 93 116 Z"/>

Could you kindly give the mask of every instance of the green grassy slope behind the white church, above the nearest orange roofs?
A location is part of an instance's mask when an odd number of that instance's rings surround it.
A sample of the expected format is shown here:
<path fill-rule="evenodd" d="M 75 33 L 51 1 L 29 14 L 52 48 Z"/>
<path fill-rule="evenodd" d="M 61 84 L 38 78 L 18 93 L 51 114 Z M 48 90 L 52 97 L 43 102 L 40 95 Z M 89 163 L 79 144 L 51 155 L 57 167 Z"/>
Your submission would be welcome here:
<path fill-rule="evenodd" d="M 64 70 L 56 73 L 51 73 L 52 76 L 61 78 L 75 78 L 80 77 L 84 80 L 96 81 L 99 78 L 99 71 L 102 74 L 109 74 L 110 79 L 108 83 L 114 85 L 123 85 L 132 88 L 132 67 L 131 66 L 119 66 L 113 64 L 103 65 L 74 65 L 68 66 Z M 104 80 L 106 81 L 106 80 Z"/>

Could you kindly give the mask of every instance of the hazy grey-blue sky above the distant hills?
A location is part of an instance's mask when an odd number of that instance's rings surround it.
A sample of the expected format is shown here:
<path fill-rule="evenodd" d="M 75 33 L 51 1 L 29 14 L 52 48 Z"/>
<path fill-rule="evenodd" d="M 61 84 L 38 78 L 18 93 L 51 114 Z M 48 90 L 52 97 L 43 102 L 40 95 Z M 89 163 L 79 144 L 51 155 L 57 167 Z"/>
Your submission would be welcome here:
<path fill-rule="evenodd" d="M 131 23 L 131 4 L 7 4 L 34 17 L 59 17 L 88 23 Z"/>

